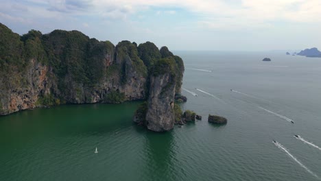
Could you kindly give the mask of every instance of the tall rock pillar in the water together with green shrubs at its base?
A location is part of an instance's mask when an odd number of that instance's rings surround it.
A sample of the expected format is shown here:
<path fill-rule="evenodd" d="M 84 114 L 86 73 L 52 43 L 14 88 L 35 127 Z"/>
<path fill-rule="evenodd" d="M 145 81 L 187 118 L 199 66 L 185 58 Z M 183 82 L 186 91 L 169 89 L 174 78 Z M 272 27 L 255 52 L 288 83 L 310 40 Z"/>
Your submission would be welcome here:
<path fill-rule="evenodd" d="M 151 68 L 150 92 L 146 102 L 141 104 L 134 114 L 133 121 L 145 125 L 154 132 L 165 132 L 174 128 L 176 114 L 181 112 L 175 108 L 176 87 L 181 86 L 178 80 L 178 64 L 174 56 L 168 56 L 155 62 Z M 177 105 L 176 105 L 177 106 Z"/>

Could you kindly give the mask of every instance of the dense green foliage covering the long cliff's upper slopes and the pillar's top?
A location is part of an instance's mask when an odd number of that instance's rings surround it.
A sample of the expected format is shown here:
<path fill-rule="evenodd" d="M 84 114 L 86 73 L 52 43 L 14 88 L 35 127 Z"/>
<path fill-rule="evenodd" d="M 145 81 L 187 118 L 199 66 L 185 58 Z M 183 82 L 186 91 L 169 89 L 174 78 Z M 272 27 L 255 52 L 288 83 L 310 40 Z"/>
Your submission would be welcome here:
<path fill-rule="evenodd" d="M 90 94 L 102 82 L 112 80 L 117 81 L 117 85 L 125 85 L 133 76 L 147 79 L 146 93 L 149 92 L 150 75 L 170 73 L 169 85 L 176 82 L 177 87 L 184 71 L 179 57 L 174 56 L 167 47 L 158 50 L 154 43 L 137 46 L 136 43 L 122 41 L 115 47 L 109 41 L 64 30 L 42 34 L 32 29 L 19 36 L 0 23 L 1 88 L 10 91 L 36 86 L 30 82 L 32 76 L 26 75 L 33 75 L 30 73 L 39 64 L 47 67 L 47 83 L 51 86 L 51 95 L 43 95 L 38 100 L 39 105 L 45 106 L 60 104 L 60 100 L 90 100 Z M 5 91 L 0 92 L 0 97 L 7 95 Z M 106 99 L 108 102 L 121 102 L 125 95 L 110 93 Z"/>

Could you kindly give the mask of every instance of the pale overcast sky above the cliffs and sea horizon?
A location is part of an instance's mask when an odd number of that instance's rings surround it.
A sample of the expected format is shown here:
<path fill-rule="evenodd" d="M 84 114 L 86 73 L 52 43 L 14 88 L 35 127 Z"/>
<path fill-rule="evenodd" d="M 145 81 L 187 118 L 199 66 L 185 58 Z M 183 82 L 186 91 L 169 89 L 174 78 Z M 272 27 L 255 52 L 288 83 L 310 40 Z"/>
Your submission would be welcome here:
<path fill-rule="evenodd" d="M 0 22 L 172 50 L 321 49 L 321 0 L 0 0 Z"/>

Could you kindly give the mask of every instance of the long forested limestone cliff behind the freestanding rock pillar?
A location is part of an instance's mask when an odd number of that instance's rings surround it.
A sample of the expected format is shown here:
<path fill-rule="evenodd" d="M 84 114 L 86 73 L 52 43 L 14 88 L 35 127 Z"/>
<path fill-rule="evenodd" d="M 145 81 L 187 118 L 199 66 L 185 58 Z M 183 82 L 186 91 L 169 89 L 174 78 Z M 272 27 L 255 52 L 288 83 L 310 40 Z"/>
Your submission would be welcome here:
<path fill-rule="evenodd" d="M 147 99 L 154 65 L 169 57 L 175 60 L 179 93 L 184 64 L 167 47 L 126 40 L 115 46 L 78 31 L 31 30 L 19 36 L 0 23 L 0 114 Z"/>

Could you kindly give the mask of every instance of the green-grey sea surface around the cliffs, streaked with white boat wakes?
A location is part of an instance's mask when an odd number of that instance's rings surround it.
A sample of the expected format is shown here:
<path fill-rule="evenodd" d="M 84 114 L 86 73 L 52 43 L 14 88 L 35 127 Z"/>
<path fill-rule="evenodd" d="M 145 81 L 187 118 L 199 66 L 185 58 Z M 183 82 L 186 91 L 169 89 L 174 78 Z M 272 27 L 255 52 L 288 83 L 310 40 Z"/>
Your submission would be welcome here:
<path fill-rule="evenodd" d="M 202 121 L 150 132 L 139 101 L 17 112 L 0 117 L 0 180 L 321 180 L 321 58 L 175 53 Z"/>

